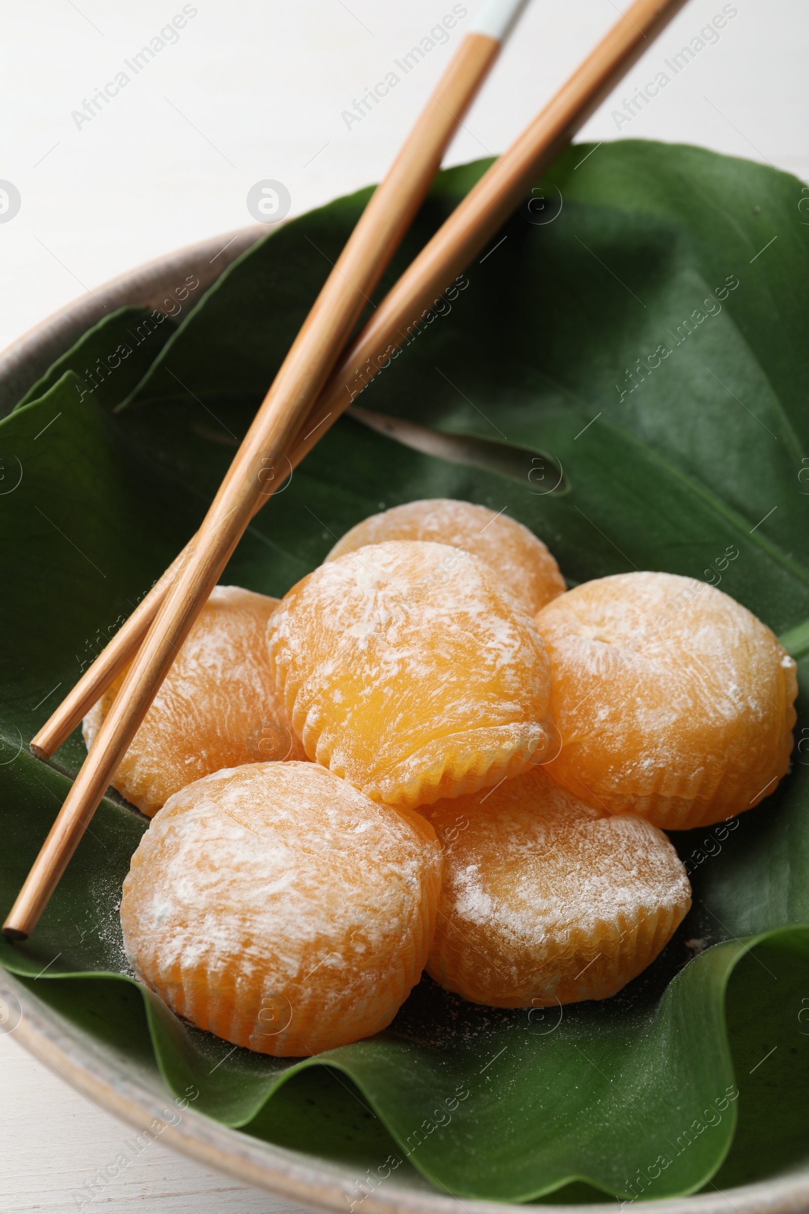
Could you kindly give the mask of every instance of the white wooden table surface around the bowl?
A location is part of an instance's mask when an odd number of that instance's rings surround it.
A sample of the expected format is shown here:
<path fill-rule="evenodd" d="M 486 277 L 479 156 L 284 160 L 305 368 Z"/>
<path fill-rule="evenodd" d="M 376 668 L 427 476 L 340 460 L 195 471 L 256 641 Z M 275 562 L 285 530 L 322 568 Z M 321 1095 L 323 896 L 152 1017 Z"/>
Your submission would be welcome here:
<path fill-rule="evenodd" d="M 178 41 L 136 76 L 124 59 L 182 11 L 181 0 L 0 0 L 0 178 L 22 195 L 18 215 L 0 223 L 0 348 L 115 274 L 250 223 L 245 198 L 256 181 L 281 181 L 291 214 L 378 181 L 479 0 L 465 6 L 469 16 L 450 42 L 348 129 L 342 110 L 452 0 L 195 0 Z M 720 40 L 619 134 L 611 112 L 629 89 L 723 8 L 723 0 L 690 0 L 580 140 L 700 143 L 809 180 L 809 4 L 731 7 L 737 15 Z M 613 0 L 532 0 L 446 163 L 503 151 L 617 16 Z M 72 112 L 121 69 L 130 83 L 76 126 Z M 0 1036 L 0 1212 L 68 1214 L 72 1191 L 115 1158 L 130 1128 L 13 1034 Z M 286 1209 L 156 1142 L 104 1191 L 103 1204 L 120 1214 Z"/>

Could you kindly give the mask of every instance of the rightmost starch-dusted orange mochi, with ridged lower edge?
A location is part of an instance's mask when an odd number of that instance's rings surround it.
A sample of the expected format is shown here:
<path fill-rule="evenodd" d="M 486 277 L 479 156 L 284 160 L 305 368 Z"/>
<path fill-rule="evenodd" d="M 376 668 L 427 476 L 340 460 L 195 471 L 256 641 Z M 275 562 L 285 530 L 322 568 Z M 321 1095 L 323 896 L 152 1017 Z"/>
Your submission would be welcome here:
<path fill-rule="evenodd" d="M 792 750 L 796 663 L 705 582 L 621 573 L 536 617 L 562 749 L 551 775 L 591 805 L 670 830 L 775 792 Z"/>

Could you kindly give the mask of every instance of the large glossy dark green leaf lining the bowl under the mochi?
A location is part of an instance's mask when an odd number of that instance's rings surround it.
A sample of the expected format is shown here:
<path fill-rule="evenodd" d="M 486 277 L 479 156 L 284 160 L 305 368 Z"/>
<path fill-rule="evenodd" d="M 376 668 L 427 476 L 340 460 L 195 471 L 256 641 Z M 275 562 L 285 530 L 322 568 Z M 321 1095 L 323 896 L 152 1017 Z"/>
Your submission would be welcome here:
<path fill-rule="evenodd" d="M 581 157 L 539 186 L 562 195 L 552 222 L 515 215 L 451 312 L 360 401 L 495 442 L 517 469 L 528 453 L 524 480 L 479 466 L 468 443 L 449 463 L 342 419 L 223 580 L 283 594 L 368 514 L 465 498 L 531 527 L 572 582 L 657 568 L 720 584 L 784 635 L 805 687 L 802 186 L 697 148 L 623 141 Z M 484 169 L 439 176 L 377 300 Z M 24 744 L 196 527 L 366 198 L 268 236 L 165 324 L 148 368 L 133 348 L 82 393 L 91 356 L 133 319 L 108 318 L 0 424 L 0 490 L 22 472 L 0 492 L 13 572 L 0 639 L 4 910 L 84 753 L 74 736 L 46 765 Z M 568 492 L 547 492 L 543 453 Z M 209 1116 L 357 1164 L 358 1199 L 418 1174 L 461 1197 L 629 1201 L 787 1170 L 809 1156 L 803 692 L 798 715 L 794 767 L 774 796 L 673 836 L 694 907 L 660 958 L 560 1019 L 478 1008 L 423 978 L 372 1039 L 306 1061 L 233 1050 L 132 981 L 118 900 L 147 823 L 112 793 L 33 940 L 0 943 L 0 959 L 133 1070 L 156 1065 L 172 1091 L 199 1090 Z"/>

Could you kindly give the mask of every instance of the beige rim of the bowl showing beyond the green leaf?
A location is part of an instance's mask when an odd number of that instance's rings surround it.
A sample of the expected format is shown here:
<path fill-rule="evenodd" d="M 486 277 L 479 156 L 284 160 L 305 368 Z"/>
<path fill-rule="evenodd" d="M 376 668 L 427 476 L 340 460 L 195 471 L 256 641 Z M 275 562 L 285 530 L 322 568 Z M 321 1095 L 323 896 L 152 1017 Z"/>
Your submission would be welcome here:
<path fill-rule="evenodd" d="M 126 305 L 152 307 L 169 314 L 163 306 L 164 299 L 177 276 L 194 273 L 206 289 L 267 231 L 263 225 L 239 228 L 156 257 L 41 320 L 0 353 L 0 418 L 10 413 L 47 368 L 106 314 Z M 361 1204 L 361 1214 L 458 1214 L 460 1198 L 395 1181 L 386 1181 L 358 1201 L 359 1181 L 351 1167 L 274 1146 L 192 1107 L 183 1111 L 178 1123 L 171 1124 L 163 1116 L 166 1096 L 158 1095 L 124 1066 L 93 1050 L 87 1036 L 0 966 L 0 998 L 8 997 L 18 1000 L 22 1008 L 15 1037 L 34 1057 L 130 1125 L 143 1130 L 160 1122 L 164 1127 L 159 1131 L 161 1141 L 206 1167 L 314 1209 L 351 1214 L 353 1206 Z M 621 1203 L 621 1210 L 625 1204 L 632 1203 Z M 654 1202 L 665 1214 L 727 1214 L 729 1204 L 736 1214 L 807 1214 L 809 1164 L 752 1185 Z M 461 1206 L 467 1214 L 513 1214 L 515 1208 L 511 1202 L 467 1198 Z M 575 1210 L 615 1214 L 615 1199 L 579 1206 L 519 1203 L 518 1208 L 537 1214 L 572 1214 Z"/>

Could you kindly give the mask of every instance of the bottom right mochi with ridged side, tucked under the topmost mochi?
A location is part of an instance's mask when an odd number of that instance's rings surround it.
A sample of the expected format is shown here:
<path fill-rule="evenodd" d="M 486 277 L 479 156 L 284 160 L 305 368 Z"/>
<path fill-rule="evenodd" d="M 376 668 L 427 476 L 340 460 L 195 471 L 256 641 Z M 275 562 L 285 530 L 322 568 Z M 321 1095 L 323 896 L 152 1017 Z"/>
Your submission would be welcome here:
<path fill-rule="evenodd" d="M 422 812 L 444 845 L 427 972 L 473 1003 L 606 999 L 655 959 L 691 904 L 662 830 L 586 805 L 542 767 Z"/>

